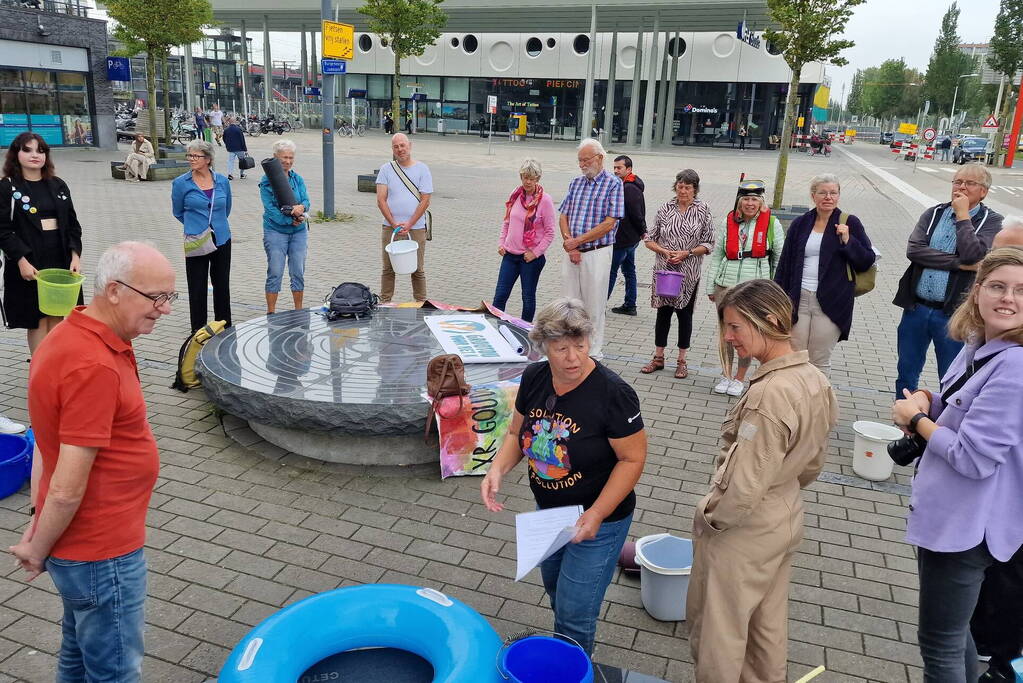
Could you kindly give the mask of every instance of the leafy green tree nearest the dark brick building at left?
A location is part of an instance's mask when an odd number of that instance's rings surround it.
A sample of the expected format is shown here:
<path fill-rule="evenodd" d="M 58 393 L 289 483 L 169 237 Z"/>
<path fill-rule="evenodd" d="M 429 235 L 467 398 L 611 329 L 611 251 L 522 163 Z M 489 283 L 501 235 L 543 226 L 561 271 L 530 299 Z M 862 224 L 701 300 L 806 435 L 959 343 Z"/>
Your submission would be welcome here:
<path fill-rule="evenodd" d="M 117 21 L 114 38 L 124 45 L 119 52 L 125 56 L 145 53 L 149 131 L 157 142 L 157 63 L 166 59 L 175 45 L 202 40 L 203 29 L 214 25 L 213 7 L 210 0 L 105 0 L 104 4 L 107 14 Z M 166 94 L 166 81 L 164 91 Z M 169 144 L 169 127 L 164 137 Z"/>

